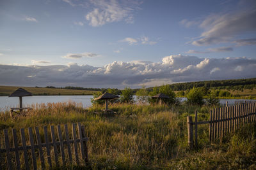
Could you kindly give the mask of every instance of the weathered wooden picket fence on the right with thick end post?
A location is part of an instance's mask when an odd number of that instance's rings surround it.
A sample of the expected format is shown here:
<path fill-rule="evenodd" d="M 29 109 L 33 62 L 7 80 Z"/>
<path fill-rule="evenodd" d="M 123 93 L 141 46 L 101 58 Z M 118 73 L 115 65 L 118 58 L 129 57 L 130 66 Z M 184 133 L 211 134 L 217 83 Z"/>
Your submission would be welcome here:
<path fill-rule="evenodd" d="M 236 131 L 243 124 L 256 122 L 256 103 L 239 104 L 235 106 L 225 106 L 215 108 L 210 111 L 210 120 L 205 122 L 197 121 L 197 112 L 195 111 L 195 122 L 192 117 L 187 117 L 188 124 L 188 143 L 192 148 L 193 126 L 195 126 L 195 145 L 198 143 L 198 125 L 209 124 L 209 141 L 222 139 L 228 133 Z"/>

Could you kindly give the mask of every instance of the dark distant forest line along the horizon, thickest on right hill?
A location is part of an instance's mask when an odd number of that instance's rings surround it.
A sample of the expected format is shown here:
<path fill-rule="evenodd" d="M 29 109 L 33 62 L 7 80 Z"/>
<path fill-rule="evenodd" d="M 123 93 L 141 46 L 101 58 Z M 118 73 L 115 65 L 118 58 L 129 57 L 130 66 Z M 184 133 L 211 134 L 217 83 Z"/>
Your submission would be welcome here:
<path fill-rule="evenodd" d="M 246 78 L 246 79 L 237 79 L 237 80 L 211 80 L 211 81 L 193 81 L 186 83 L 174 83 L 169 85 L 173 91 L 182 91 L 189 90 L 193 87 L 205 87 L 207 89 L 226 89 L 226 90 L 243 90 L 243 89 L 253 89 L 256 88 L 256 78 Z M 106 92 L 108 89 L 99 89 L 99 88 L 84 88 L 84 87 L 53 87 L 47 86 L 46 88 L 51 89 L 73 89 L 73 90 L 94 90 Z M 121 94 L 122 90 L 115 89 L 118 91 L 118 94 Z M 132 89 L 135 93 L 139 89 Z M 148 87 L 148 91 L 152 91 L 153 87 Z"/>

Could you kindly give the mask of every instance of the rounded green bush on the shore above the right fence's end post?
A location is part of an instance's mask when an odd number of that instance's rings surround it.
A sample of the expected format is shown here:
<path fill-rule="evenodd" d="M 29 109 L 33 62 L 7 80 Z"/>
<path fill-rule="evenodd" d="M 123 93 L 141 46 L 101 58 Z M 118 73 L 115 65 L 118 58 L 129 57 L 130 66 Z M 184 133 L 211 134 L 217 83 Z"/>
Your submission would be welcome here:
<path fill-rule="evenodd" d="M 193 89 L 189 90 L 186 97 L 188 98 L 188 103 L 202 105 L 204 104 L 203 96 L 204 94 L 200 89 L 193 87 Z"/>

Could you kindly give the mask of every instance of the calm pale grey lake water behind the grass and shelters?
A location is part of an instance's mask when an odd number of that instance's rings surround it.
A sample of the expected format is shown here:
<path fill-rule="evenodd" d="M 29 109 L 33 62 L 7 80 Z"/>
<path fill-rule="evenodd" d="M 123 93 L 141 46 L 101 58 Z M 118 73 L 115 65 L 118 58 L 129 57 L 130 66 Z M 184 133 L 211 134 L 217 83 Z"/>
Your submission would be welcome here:
<path fill-rule="evenodd" d="M 36 103 L 59 103 L 59 102 L 67 102 L 73 101 L 76 103 L 83 104 L 84 108 L 87 108 L 92 105 L 91 98 L 93 96 L 28 96 L 22 97 L 23 107 L 30 104 Z M 186 97 L 180 97 L 180 101 L 186 101 Z M 248 100 L 248 99 L 220 99 L 221 104 L 225 104 L 228 101 L 228 104 L 235 103 L 244 103 L 244 101 L 253 101 L 256 100 Z M 19 107 L 19 97 L 8 97 L 8 96 L 0 96 L 0 111 L 10 110 L 10 108 Z"/>

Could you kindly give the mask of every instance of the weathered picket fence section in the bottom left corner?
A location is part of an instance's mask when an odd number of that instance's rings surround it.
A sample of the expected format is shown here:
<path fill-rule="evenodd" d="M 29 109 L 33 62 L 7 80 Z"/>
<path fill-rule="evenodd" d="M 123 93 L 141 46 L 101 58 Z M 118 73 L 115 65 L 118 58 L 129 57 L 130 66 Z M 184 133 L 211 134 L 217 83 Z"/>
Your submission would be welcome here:
<path fill-rule="evenodd" d="M 80 123 L 77 124 L 77 131 L 78 131 L 78 135 L 77 135 L 76 124 L 72 124 L 72 139 L 70 139 L 67 124 L 64 125 L 64 131 L 65 131 L 65 140 L 63 140 L 61 126 L 57 125 L 58 135 L 55 136 L 54 126 L 51 125 L 51 142 L 50 142 L 48 138 L 47 126 L 44 126 L 44 136 L 43 136 L 44 138 L 41 138 L 39 128 L 35 127 L 36 140 L 33 138 L 33 135 L 34 135 L 33 129 L 29 127 L 28 137 L 29 137 L 30 145 L 27 145 L 25 129 L 22 128 L 20 129 L 20 138 L 21 138 L 21 146 L 20 146 L 18 143 L 17 131 L 16 129 L 12 129 L 12 140 L 13 140 L 13 148 L 12 148 L 10 146 L 11 138 L 8 136 L 8 129 L 4 129 L 5 148 L 1 148 L 0 146 L 0 152 L 1 152 L 0 156 L 4 157 L 4 155 L 6 155 L 7 165 L 5 168 L 20 169 L 20 167 L 22 166 L 21 162 L 24 162 L 25 168 L 29 169 L 31 167 L 29 166 L 29 162 L 31 162 L 30 164 L 33 165 L 32 166 L 33 169 L 37 169 L 36 160 L 40 158 L 41 169 L 45 169 L 45 157 L 47 158 L 47 162 L 48 162 L 47 167 L 60 166 L 60 163 L 59 163 L 60 157 L 61 157 L 61 162 L 63 166 L 65 166 L 67 162 L 69 162 L 69 164 L 74 164 L 74 162 L 76 162 L 77 165 L 79 165 L 82 162 L 83 164 L 87 162 L 88 150 L 86 146 L 86 141 L 88 140 L 88 138 L 85 138 L 84 126 L 81 125 Z M 58 141 L 56 141 L 56 137 L 58 137 Z M 42 139 L 44 139 L 43 140 L 44 143 L 42 142 Z M 72 151 L 74 152 L 72 153 Z M 15 159 L 13 159 L 14 157 L 12 152 L 15 153 Z M 19 154 L 20 152 L 22 152 L 22 154 Z M 28 154 L 28 153 L 31 153 L 31 154 Z M 78 153 L 81 153 L 81 157 L 79 157 Z M 52 165 L 51 155 L 54 155 L 54 165 Z M 66 155 L 68 155 L 68 159 Z M 29 158 L 31 158 L 32 161 L 29 160 Z"/>

